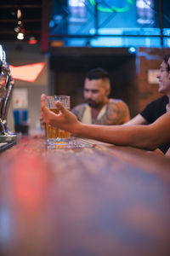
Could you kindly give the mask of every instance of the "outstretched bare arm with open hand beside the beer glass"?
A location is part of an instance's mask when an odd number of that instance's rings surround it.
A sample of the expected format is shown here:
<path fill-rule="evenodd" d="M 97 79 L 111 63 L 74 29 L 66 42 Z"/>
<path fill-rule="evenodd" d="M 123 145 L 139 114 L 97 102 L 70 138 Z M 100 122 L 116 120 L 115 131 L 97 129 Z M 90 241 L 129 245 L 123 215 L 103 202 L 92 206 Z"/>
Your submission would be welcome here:
<path fill-rule="evenodd" d="M 87 137 L 105 143 L 132 146 L 153 150 L 170 141 L 170 113 L 166 113 L 151 125 L 86 125 L 65 109 L 60 102 L 56 107 L 60 113 L 52 113 L 46 108 L 46 97 L 41 99 L 42 116 L 46 123 L 70 131 L 77 137 Z"/>

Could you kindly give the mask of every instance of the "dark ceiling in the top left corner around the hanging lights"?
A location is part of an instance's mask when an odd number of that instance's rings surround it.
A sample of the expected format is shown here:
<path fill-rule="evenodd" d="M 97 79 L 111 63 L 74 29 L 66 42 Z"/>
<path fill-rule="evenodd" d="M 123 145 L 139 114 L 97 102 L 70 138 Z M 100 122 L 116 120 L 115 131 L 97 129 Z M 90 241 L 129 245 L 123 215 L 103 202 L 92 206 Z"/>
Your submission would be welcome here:
<path fill-rule="evenodd" d="M 17 17 L 20 9 L 21 17 Z M 34 37 L 41 43 L 42 51 L 48 48 L 49 20 L 52 0 L 0 1 L 0 44 L 17 40 L 17 26 L 25 34 L 25 41 Z"/>

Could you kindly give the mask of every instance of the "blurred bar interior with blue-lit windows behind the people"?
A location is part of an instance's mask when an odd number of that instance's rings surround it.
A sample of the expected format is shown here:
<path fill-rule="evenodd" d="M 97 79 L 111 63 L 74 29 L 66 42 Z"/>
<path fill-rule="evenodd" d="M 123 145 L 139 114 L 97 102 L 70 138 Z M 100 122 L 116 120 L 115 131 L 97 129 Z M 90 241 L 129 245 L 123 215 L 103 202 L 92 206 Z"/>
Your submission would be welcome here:
<path fill-rule="evenodd" d="M 28 108 L 30 132 L 39 129 L 40 96 L 83 101 L 88 70 L 111 74 L 111 97 L 131 117 L 159 97 L 156 73 L 170 53 L 167 0 L 6 0 L 0 3 L 0 44 L 14 78 L 14 108 Z M 22 99 L 22 100 L 21 100 Z"/>

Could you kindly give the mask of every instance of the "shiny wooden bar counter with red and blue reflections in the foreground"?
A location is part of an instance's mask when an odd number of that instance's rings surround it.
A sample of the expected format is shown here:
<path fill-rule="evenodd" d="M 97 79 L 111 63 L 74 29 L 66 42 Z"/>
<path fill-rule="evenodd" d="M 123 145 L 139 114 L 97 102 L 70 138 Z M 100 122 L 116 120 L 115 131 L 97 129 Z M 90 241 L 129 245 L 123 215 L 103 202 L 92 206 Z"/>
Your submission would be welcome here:
<path fill-rule="evenodd" d="M 23 137 L 0 155 L 0 255 L 170 255 L 170 159 Z"/>

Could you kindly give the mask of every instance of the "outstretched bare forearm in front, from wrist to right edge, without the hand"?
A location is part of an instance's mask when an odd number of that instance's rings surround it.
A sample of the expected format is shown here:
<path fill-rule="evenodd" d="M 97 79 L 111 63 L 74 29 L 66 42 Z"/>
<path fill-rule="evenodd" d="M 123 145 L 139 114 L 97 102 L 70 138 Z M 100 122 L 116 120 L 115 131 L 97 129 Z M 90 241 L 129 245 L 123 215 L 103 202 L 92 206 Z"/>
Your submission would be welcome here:
<path fill-rule="evenodd" d="M 162 115 L 151 125 L 81 125 L 77 130 L 78 137 L 88 137 L 105 143 L 132 146 L 154 150 L 170 142 L 170 113 Z"/>

